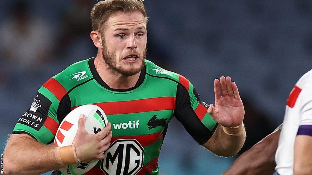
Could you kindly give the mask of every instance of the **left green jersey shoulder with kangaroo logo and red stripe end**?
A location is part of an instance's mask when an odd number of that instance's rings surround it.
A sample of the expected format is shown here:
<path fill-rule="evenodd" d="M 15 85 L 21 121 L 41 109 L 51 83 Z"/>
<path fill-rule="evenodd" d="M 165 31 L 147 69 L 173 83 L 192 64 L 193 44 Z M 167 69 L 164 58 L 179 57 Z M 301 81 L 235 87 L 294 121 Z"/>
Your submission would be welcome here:
<path fill-rule="evenodd" d="M 90 59 L 71 64 L 62 72 L 46 81 L 42 86 L 51 91 L 60 100 L 72 88 L 93 78 L 89 68 Z"/>

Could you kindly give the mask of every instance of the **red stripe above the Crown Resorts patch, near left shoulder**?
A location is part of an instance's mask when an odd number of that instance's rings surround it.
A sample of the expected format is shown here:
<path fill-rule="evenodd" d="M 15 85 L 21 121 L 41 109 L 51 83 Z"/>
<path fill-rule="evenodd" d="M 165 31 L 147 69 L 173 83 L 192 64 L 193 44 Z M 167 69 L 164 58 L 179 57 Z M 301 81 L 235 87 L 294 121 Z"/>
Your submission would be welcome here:
<path fill-rule="evenodd" d="M 50 78 L 46 83 L 42 85 L 43 87 L 49 89 L 49 91 L 52 92 L 52 94 L 59 100 L 64 97 L 64 95 L 67 93 L 66 89 L 55 79 Z"/>

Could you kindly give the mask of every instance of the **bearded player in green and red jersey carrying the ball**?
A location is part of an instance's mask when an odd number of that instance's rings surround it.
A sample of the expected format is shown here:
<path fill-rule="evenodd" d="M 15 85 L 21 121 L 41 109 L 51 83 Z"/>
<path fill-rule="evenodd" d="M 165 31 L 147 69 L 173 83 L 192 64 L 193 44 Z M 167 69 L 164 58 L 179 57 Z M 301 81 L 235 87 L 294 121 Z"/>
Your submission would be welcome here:
<path fill-rule="evenodd" d="M 159 174 L 158 156 L 173 116 L 217 155 L 233 156 L 241 149 L 244 107 L 230 77 L 214 81 L 215 106 L 209 106 L 186 78 L 145 60 L 147 16 L 141 0 L 98 2 L 91 18 L 98 54 L 72 64 L 38 90 L 8 141 L 5 173 L 40 174 L 100 159 L 86 175 Z M 55 137 L 62 140 L 55 136 L 59 123 L 84 104 L 100 106 L 111 125 L 88 134 L 82 115 L 71 146 L 46 145 Z"/>

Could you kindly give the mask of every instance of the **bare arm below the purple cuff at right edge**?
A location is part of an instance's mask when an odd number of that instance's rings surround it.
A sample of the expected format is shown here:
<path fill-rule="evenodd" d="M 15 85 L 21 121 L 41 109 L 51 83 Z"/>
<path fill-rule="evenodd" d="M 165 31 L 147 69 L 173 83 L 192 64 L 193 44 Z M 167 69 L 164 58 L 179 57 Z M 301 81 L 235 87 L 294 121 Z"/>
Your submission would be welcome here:
<path fill-rule="evenodd" d="M 312 137 L 297 135 L 294 148 L 294 175 L 312 174 Z"/>

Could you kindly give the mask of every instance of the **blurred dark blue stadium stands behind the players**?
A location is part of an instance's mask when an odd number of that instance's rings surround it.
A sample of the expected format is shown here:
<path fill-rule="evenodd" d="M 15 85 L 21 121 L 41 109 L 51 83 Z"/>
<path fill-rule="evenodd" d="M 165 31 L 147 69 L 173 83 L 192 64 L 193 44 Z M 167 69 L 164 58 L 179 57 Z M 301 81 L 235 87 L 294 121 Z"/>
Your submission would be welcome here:
<path fill-rule="evenodd" d="M 37 89 L 68 65 L 93 57 L 94 0 L 0 0 L 0 149 Z M 311 69 L 308 0 L 145 0 L 147 59 L 187 77 L 214 103 L 213 80 L 230 75 L 246 109 L 249 149 L 278 126 L 300 76 Z M 198 145 L 173 119 L 159 159 L 161 174 L 221 174 L 235 158 Z"/>

